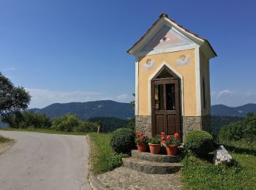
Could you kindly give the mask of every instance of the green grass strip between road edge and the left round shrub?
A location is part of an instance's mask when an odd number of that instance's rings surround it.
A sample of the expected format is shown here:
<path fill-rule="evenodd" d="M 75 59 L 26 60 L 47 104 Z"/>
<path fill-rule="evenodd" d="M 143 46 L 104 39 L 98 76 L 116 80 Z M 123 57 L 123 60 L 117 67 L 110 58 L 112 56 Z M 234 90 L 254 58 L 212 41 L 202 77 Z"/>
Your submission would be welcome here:
<path fill-rule="evenodd" d="M 95 174 L 112 170 L 109 164 L 109 158 L 114 155 L 113 149 L 110 147 L 111 134 L 89 133 L 93 143 L 91 148 L 92 170 Z"/>

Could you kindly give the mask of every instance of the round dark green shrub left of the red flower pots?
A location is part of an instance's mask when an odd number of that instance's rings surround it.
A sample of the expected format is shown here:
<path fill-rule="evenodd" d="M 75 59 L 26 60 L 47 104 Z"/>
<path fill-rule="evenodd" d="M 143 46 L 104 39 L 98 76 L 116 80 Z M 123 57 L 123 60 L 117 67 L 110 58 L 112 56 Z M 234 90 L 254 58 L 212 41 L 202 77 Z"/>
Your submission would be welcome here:
<path fill-rule="evenodd" d="M 116 153 L 130 153 L 135 147 L 135 133 L 128 128 L 116 129 L 112 133 L 110 145 Z"/>

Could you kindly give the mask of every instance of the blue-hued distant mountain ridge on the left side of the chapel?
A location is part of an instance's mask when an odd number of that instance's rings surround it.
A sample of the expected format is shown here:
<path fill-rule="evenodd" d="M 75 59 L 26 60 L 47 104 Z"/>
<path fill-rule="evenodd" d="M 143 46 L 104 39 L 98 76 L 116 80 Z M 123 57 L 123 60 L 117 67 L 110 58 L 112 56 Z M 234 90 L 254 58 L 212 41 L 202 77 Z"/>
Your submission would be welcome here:
<path fill-rule="evenodd" d="M 29 111 L 45 113 L 50 118 L 59 117 L 65 114 L 78 115 L 80 119 L 95 117 L 115 117 L 129 119 L 134 117 L 135 110 L 129 103 L 115 102 L 111 100 L 100 100 L 94 102 L 71 102 L 50 104 L 42 109 L 32 108 Z"/>

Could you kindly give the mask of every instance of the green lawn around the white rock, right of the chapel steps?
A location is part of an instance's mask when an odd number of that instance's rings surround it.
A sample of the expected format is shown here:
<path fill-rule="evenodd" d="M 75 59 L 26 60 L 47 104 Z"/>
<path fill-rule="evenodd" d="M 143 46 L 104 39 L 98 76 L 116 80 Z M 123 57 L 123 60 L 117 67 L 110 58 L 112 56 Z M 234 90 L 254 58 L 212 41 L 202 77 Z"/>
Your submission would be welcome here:
<path fill-rule="evenodd" d="M 217 167 L 186 156 L 181 180 L 184 189 L 256 189 L 256 146 L 230 142 L 225 147 L 235 159 L 232 167 Z"/>

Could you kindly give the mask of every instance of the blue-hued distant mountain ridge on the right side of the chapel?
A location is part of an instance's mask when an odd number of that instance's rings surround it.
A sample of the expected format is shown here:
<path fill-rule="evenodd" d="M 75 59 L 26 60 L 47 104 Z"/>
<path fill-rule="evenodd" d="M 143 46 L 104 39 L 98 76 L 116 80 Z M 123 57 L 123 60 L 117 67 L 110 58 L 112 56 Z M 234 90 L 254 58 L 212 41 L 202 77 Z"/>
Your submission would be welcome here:
<path fill-rule="evenodd" d="M 256 104 L 245 104 L 238 107 L 228 107 L 223 104 L 211 106 L 211 115 L 246 117 L 247 113 L 256 113 Z"/>

